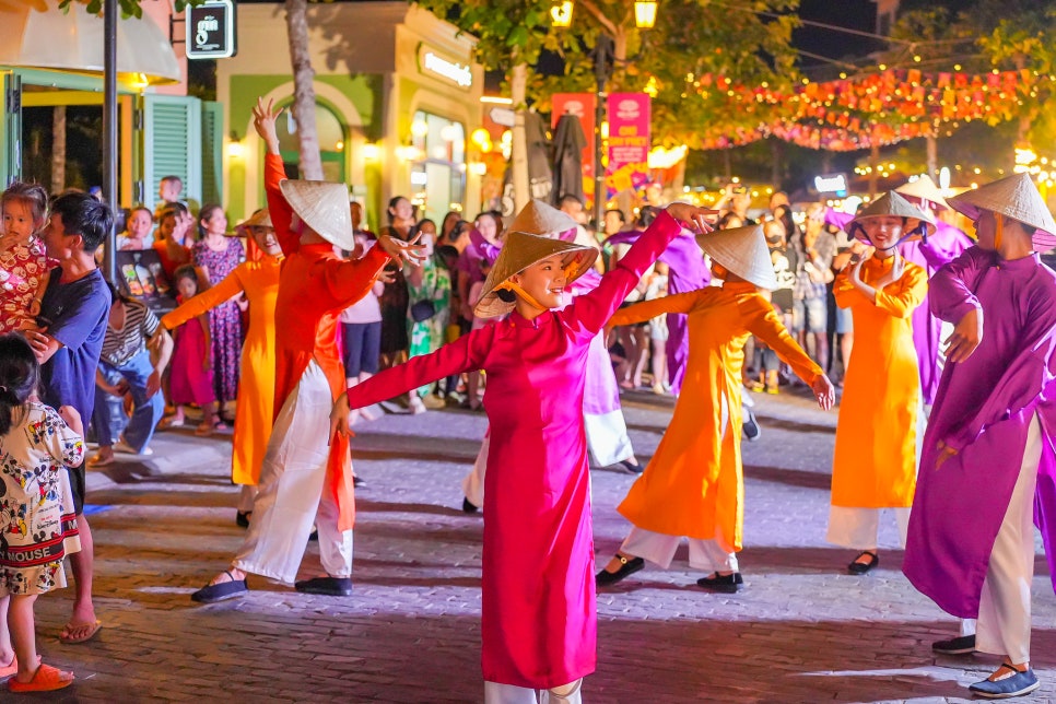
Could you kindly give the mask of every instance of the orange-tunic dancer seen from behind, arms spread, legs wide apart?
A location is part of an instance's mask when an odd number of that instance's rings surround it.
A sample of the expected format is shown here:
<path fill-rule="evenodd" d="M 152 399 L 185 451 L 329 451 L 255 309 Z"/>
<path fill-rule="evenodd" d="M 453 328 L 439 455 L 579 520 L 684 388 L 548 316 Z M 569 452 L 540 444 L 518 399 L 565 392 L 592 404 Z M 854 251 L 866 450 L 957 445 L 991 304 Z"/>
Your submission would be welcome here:
<path fill-rule="evenodd" d="M 758 225 L 697 236 L 723 281 L 623 308 L 612 325 L 648 320 L 661 313 L 689 316 L 690 356 L 671 424 L 645 472 L 634 482 L 620 513 L 633 525 L 598 586 L 620 582 L 645 566 L 667 568 L 682 537 L 690 566 L 707 576 L 696 584 L 732 594 L 742 585 L 736 551 L 741 549 L 744 478 L 741 468 L 741 367 L 750 335 L 764 340 L 811 386 L 829 409 L 835 390 L 788 335 L 761 289 L 777 284 L 762 228 Z"/>

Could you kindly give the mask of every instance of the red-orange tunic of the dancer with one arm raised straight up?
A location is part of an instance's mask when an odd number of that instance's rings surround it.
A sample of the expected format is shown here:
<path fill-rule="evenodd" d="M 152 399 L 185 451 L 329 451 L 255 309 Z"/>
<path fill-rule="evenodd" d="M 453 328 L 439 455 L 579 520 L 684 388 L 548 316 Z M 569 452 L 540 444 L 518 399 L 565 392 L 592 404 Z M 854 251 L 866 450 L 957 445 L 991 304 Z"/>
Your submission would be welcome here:
<path fill-rule="evenodd" d="M 300 235 L 290 228 L 293 210 L 279 190 L 279 183 L 285 178 L 282 159 L 268 154 L 265 168 L 268 210 L 286 256 L 275 300 L 274 413 L 278 418 L 312 360 L 326 374 L 333 398 L 344 392 L 344 367 L 337 345 L 338 315 L 366 295 L 374 279 L 389 262 L 389 256 L 380 247 L 372 247 L 362 259 L 349 260 L 339 258 L 330 244 L 301 246 Z M 348 439 L 335 435 L 330 438 L 324 491 L 333 492 L 337 500 L 340 530 L 351 530 L 355 520 L 350 461 Z"/>

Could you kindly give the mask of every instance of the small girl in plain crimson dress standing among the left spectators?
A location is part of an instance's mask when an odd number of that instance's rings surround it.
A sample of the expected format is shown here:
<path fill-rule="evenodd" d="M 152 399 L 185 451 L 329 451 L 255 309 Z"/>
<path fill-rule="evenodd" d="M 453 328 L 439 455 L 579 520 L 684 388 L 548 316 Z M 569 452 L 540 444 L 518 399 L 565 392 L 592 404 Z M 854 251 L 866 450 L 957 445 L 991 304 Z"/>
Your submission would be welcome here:
<path fill-rule="evenodd" d="M 183 304 L 198 295 L 198 272 L 184 265 L 175 273 L 177 301 Z M 213 390 L 212 355 L 209 341 L 209 317 L 201 314 L 196 320 L 176 329 L 172 372 L 168 377 L 169 400 L 176 413 L 167 418 L 165 427 L 179 427 L 185 422 L 184 407 L 195 403 L 202 409 L 202 422 L 196 435 L 209 435 L 216 423 L 216 392 Z"/>

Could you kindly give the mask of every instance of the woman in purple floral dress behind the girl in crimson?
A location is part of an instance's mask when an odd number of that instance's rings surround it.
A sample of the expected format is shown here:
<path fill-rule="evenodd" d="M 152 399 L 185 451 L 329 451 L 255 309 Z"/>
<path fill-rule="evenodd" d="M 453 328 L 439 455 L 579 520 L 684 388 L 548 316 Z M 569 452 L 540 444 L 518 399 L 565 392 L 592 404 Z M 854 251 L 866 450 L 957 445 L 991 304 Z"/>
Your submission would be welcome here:
<path fill-rule="evenodd" d="M 216 204 L 201 209 L 198 220 L 206 236 L 190 248 L 193 265 L 204 274 L 206 283 L 216 283 L 246 260 L 246 250 L 237 237 L 226 236 L 227 216 Z M 238 392 L 238 361 L 242 355 L 242 312 L 239 302 L 228 301 L 209 312 L 212 337 L 213 386 L 221 411 L 225 401 Z M 218 430 L 223 423 L 218 423 Z"/>

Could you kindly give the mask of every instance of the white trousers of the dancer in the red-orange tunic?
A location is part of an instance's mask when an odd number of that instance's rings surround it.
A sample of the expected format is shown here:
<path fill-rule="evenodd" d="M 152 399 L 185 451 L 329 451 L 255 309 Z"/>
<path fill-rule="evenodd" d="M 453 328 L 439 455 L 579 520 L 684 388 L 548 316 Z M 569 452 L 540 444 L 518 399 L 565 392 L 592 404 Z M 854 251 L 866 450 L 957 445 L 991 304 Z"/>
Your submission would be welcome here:
<path fill-rule="evenodd" d="M 333 397 L 312 361 L 290 394 L 268 442 L 246 541 L 232 563 L 243 572 L 293 584 L 312 526 L 331 577 L 352 575 L 352 531 L 338 530 L 338 506 L 324 484 Z"/>

